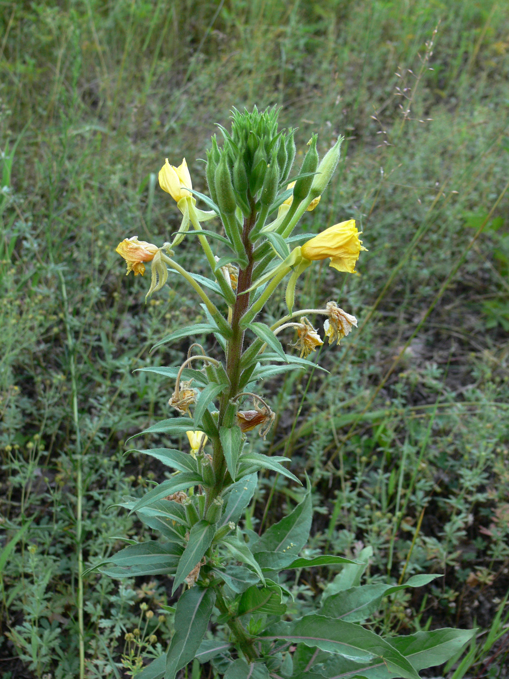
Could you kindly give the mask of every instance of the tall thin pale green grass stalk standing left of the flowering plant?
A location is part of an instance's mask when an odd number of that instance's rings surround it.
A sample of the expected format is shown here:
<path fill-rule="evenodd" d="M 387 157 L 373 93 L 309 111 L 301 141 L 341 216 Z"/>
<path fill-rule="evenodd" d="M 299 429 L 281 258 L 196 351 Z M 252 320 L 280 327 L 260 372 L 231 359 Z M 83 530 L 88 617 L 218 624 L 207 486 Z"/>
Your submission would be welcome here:
<path fill-rule="evenodd" d="M 78 629 L 79 629 L 79 679 L 85 677 L 85 627 L 83 624 L 83 456 L 81 455 L 81 437 L 79 435 L 78 417 L 78 390 L 76 381 L 75 342 L 71 335 L 69 323 L 69 304 L 67 302 L 67 289 L 64 276 L 58 272 L 62 286 L 62 302 L 64 306 L 65 329 L 67 332 L 67 344 L 69 346 L 69 368 L 71 370 L 71 384 L 73 389 L 73 420 L 76 430 L 76 546 L 78 556 Z"/>

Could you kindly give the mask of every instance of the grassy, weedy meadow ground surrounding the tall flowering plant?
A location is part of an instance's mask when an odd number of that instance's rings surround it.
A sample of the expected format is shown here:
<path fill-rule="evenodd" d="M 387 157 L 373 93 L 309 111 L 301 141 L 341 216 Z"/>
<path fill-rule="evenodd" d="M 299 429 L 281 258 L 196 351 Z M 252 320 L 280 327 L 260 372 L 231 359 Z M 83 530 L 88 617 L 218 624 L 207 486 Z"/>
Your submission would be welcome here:
<path fill-rule="evenodd" d="M 444 676 L 506 676 L 506 4 L 83 0 L 2 10 L 5 679 L 80 676 L 81 640 L 85 676 L 127 676 L 115 665 L 130 655 L 127 632 L 140 629 L 146 657 L 168 642 L 164 579 L 117 583 L 86 569 L 125 536 L 147 537 L 113 504 L 163 477 L 124 444 L 167 416 L 172 385 L 132 371 L 180 363 L 185 343 L 149 350 L 200 309 L 171 286 L 145 306 L 145 280 L 125 278 L 114 248 L 176 230 L 155 183 L 164 158 L 185 155 L 204 189 L 195 159 L 214 123 L 255 103 L 282 105 L 299 149 L 312 132 L 321 152 L 345 134 L 307 227 L 354 218 L 369 249 L 360 276 L 326 266 L 303 276 L 304 307 L 336 299 L 360 320 L 339 349 L 322 349 L 330 373 L 266 385 L 278 414 L 270 450 L 314 485 L 308 549 L 371 545 L 370 581 L 445 573 L 395 595 L 373 625 L 476 625 L 470 652 Z M 283 304 L 274 299 L 274 318 Z M 259 530 L 264 513 L 273 520 L 294 499 L 267 475 L 247 520 Z M 296 610 L 331 576 L 298 574 Z M 156 613 L 146 629 L 140 602 Z"/>

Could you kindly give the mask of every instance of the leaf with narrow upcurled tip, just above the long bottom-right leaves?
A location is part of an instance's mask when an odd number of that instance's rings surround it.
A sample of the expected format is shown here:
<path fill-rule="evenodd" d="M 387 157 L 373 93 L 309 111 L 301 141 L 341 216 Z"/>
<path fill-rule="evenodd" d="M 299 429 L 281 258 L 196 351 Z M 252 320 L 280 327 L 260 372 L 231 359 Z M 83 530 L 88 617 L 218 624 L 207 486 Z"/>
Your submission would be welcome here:
<path fill-rule="evenodd" d="M 350 587 L 328 597 L 322 608 L 318 610 L 320 615 L 331 618 L 341 618 L 350 623 L 359 623 L 369 618 L 379 609 L 379 604 L 384 596 L 405 589 L 405 587 L 423 587 L 440 575 L 415 575 L 404 585 L 363 585 Z"/>

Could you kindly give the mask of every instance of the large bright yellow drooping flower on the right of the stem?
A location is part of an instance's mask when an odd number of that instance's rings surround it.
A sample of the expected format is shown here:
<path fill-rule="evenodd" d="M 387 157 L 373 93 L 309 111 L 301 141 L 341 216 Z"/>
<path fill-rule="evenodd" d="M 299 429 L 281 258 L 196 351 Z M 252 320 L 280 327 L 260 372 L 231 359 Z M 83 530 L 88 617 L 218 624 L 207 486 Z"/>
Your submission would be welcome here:
<path fill-rule="evenodd" d="M 312 261 L 331 257 L 329 266 L 353 274 L 361 250 L 366 248 L 362 247 L 362 240 L 359 240 L 355 219 L 349 219 L 308 240 L 303 244 L 301 253 L 305 259 Z"/>

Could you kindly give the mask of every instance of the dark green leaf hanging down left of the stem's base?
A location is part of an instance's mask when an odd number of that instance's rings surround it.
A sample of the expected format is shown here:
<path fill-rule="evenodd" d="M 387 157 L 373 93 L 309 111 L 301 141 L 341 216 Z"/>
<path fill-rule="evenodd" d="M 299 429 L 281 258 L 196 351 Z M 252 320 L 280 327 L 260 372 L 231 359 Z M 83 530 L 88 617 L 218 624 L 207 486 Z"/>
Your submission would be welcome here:
<path fill-rule="evenodd" d="M 187 589 L 176 603 L 175 634 L 166 656 L 165 679 L 175 679 L 178 670 L 195 657 L 215 600 L 216 593 L 213 589 L 200 589 L 195 585 Z"/>

